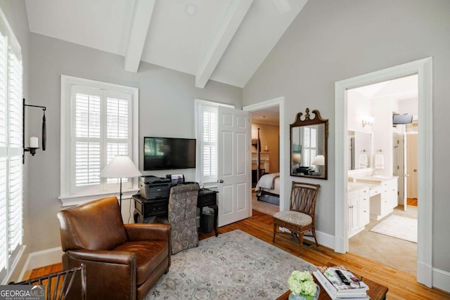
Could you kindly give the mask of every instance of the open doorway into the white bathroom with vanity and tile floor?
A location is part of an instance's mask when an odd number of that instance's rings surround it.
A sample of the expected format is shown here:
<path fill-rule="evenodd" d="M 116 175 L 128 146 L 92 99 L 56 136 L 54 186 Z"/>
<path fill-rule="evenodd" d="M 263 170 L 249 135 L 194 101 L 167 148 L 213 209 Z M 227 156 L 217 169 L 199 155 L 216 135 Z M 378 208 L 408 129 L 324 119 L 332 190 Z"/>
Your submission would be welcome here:
<path fill-rule="evenodd" d="M 413 275 L 418 211 L 407 209 L 406 191 L 417 190 L 410 167 L 417 172 L 418 153 L 406 144 L 418 122 L 417 74 L 347 90 L 348 188 L 359 191 L 347 193 L 348 251 Z"/>

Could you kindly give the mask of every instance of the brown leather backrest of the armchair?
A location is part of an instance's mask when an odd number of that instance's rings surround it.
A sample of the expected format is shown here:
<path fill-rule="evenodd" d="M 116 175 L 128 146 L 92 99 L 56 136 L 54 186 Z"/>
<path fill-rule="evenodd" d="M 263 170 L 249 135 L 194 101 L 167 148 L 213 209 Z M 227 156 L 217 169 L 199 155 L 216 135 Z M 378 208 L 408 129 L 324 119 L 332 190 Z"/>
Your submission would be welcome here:
<path fill-rule="evenodd" d="M 110 250 L 128 237 L 117 197 L 87 202 L 59 211 L 61 247 L 70 249 Z"/>

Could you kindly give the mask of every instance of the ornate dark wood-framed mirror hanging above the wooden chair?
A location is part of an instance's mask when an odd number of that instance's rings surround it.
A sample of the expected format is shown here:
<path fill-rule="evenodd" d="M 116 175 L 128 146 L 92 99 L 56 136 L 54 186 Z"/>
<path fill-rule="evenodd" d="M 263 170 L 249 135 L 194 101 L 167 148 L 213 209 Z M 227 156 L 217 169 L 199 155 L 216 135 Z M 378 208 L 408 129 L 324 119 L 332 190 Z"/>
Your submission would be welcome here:
<path fill-rule="evenodd" d="M 328 119 L 322 119 L 318 110 L 314 118 L 307 108 L 304 117 L 297 114 L 290 124 L 290 175 L 327 179 L 328 174 Z"/>

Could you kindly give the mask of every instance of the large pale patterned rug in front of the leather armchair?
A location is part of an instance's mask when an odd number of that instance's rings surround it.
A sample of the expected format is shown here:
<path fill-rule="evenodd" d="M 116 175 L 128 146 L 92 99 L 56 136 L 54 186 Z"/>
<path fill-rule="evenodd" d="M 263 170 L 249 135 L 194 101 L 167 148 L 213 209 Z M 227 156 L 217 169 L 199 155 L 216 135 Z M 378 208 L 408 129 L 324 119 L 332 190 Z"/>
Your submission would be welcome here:
<path fill-rule="evenodd" d="M 276 299 L 293 270 L 314 271 L 307 261 L 241 230 L 201 240 L 172 256 L 169 272 L 150 299 Z"/>

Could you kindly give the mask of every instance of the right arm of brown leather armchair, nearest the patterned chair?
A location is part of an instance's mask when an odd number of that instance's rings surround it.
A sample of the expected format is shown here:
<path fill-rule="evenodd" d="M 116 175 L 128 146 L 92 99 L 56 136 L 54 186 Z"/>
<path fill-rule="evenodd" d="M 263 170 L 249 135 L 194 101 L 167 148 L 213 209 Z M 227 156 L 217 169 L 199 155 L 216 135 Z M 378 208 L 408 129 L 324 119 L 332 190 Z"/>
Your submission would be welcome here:
<path fill-rule="evenodd" d="M 163 223 L 124 224 L 128 240 L 169 240 L 170 225 Z"/>

